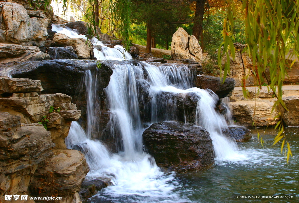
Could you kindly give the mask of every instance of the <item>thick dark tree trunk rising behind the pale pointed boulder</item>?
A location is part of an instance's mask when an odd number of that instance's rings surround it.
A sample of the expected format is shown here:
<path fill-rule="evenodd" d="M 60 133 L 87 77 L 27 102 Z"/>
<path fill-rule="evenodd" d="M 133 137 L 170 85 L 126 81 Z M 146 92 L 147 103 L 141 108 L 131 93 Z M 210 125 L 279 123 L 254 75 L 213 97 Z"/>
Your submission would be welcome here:
<path fill-rule="evenodd" d="M 205 14 L 205 2 L 206 0 L 197 0 L 196 1 L 196 10 L 195 10 L 195 21 L 193 26 L 193 35 L 198 41 L 200 41 L 200 36 L 202 34 L 202 22 Z"/>

